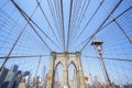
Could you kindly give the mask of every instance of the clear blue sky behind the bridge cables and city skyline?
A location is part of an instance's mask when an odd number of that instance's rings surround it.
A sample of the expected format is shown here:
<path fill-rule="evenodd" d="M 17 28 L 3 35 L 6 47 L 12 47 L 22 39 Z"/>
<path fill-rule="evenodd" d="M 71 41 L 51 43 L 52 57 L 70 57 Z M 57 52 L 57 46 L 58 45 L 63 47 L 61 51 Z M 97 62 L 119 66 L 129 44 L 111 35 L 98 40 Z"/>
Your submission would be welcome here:
<path fill-rule="evenodd" d="M 84 74 L 90 79 L 99 76 L 100 81 L 105 81 L 99 61 L 92 57 L 98 56 L 94 46 L 91 46 L 95 37 L 103 42 L 102 57 L 132 59 L 132 43 L 128 40 L 128 37 L 132 40 L 132 9 L 129 9 L 132 7 L 132 0 L 122 0 L 108 19 L 107 16 L 120 0 L 73 0 L 72 9 L 72 0 L 62 0 L 63 16 L 59 0 L 38 0 L 43 11 L 37 7 L 36 0 L 14 1 L 29 16 L 32 15 L 36 8 L 31 19 L 38 28 L 33 22 L 31 24 L 37 33 L 28 24 L 10 0 L 0 0 L 0 57 L 9 55 L 21 30 L 25 29 L 10 56 L 45 55 L 41 58 L 38 68 L 38 75 L 42 76 L 44 66 L 46 66 L 46 72 L 48 72 L 51 52 L 81 52 Z M 102 2 L 101 6 L 100 2 Z M 120 15 L 127 9 L 129 10 Z M 107 25 L 117 16 L 119 18 L 114 22 Z M 101 26 L 102 23 L 103 25 Z M 101 29 L 100 26 L 106 28 L 89 41 L 90 36 L 98 29 Z M 7 62 L 6 66 L 10 68 L 12 64 L 16 64 L 19 65 L 19 69 L 34 73 L 38 64 L 38 58 L 11 58 Z M 111 81 L 117 84 L 132 82 L 131 62 L 111 59 L 105 59 L 105 62 Z M 0 59 L 0 64 L 2 63 L 3 59 Z M 89 76 L 90 74 L 91 77 Z M 88 82 L 91 82 L 90 79 Z"/>

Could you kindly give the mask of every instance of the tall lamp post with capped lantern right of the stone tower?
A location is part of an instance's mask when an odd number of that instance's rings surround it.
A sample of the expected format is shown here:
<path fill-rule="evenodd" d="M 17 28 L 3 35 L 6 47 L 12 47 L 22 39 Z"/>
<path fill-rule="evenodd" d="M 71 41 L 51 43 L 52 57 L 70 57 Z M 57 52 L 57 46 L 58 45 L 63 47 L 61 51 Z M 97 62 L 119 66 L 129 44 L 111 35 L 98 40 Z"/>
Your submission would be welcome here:
<path fill-rule="evenodd" d="M 99 61 L 100 61 L 100 65 L 102 67 L 103 74 L 106 76 L 106 81 L 108 82 L 107 87 L 111 88 L 111 81 L 110 81 L 110 78 L 109 78 L 109 75 L 108 75 L 108 72 L 106 68 L 106 64 L 102 58 L 102 54 L 103 54 L 102 44 L 103 44 L 103 42 L 98 38 L 95 38 L 91 43 L 91 45 L 94 45 L 94 47 L 95 47 L 96 53 L 100 56 Z"/>

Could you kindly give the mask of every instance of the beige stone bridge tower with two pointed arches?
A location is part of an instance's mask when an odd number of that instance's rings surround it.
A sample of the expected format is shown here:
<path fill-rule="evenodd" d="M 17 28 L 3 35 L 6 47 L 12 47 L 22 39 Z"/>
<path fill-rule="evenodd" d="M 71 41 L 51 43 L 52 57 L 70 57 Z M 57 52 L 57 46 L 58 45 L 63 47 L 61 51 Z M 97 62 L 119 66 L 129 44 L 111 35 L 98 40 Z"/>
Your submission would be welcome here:
<path fill-rule="evenodd" d="M 77 53 L 52 52 L 51 53 L 51 65 L 50 65 L 50 72 L 47 74 L 47 76 L 50 76 L 51 79 L 46 81 L 46 88 L 54 88 L 55 69 L 59 63 L 63 65 L 63 80 L 64 80 L 63 88 L 69 88 L 68 67 L 70 64 L 74 64 L 75 68 L 76 68 L 77 88 L 85 88 L 84 72 L 82 72 L 79 52 L 77 52 Z"/>

